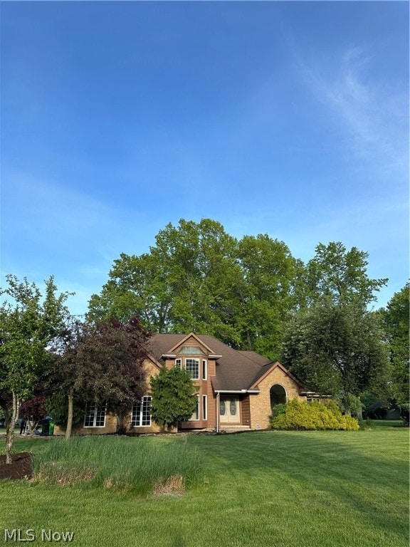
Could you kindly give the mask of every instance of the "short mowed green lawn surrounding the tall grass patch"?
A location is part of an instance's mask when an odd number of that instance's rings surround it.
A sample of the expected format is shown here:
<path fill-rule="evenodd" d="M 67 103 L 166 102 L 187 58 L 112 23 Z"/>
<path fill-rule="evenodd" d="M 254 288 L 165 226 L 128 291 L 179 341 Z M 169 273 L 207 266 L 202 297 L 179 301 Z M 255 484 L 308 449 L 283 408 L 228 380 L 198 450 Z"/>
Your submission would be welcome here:
<path fill-rule="evenodd" d="M 118 440 L 142 457 L 141 438 Z M 90 484 L 0 481 L 4 528 L 33 529 L 33 545 L 51 529 L 74 532 L 78 547 L 409 546 L 406 429 L 144 440 L 196 451 L 204 463 L 199 484 L 184 496 L 141 498 Z M 54 442 L 17 439 L 16 448 L 41 452 Z"/>

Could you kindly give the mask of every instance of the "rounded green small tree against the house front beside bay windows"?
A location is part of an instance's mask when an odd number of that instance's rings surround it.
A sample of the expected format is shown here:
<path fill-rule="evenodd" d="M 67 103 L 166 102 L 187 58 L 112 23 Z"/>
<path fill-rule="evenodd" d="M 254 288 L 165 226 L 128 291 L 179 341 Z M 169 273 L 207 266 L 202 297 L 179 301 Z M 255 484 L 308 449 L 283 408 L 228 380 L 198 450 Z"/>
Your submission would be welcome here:
<path fill-rule="evenodd" d="M 162 367 L 151 378 L 151 414 L 155 422 L 169 427 L 189 420 L 198 402 L 196 390 L 186 370 Z"/>

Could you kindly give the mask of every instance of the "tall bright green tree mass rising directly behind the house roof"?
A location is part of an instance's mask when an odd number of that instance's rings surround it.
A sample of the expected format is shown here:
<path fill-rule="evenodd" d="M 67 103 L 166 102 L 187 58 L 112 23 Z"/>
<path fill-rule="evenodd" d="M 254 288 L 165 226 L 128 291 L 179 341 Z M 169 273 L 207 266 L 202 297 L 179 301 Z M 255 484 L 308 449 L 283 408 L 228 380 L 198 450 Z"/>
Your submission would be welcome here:
<path fill-rule="evenodd" d="M 300 267 L 266 234 L 237 241 L 214 220 L 182 219 L 159 231 L 149 253 L 115 261 L 88 317 L 136 314 L 155 332 L 193 330 L 277 358 Z"/>

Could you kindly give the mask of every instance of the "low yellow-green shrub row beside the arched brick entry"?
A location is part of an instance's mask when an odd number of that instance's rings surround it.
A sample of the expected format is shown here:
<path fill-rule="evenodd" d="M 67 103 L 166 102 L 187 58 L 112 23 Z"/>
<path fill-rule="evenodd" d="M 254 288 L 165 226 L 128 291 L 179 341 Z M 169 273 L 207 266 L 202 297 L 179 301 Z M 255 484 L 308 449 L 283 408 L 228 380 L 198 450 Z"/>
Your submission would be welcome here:
<path fill-rule="evenodd" d="M 270 418 L 272 429 L 345 429 L 354 431 L 359 429 L 357 420 L 350 416 L 342 415 L 340 408 L 334 401 L 322 405 L 318 401 L 311 403 L 293 399 L 287 402 L 280 412 L 273 412 Z"/>

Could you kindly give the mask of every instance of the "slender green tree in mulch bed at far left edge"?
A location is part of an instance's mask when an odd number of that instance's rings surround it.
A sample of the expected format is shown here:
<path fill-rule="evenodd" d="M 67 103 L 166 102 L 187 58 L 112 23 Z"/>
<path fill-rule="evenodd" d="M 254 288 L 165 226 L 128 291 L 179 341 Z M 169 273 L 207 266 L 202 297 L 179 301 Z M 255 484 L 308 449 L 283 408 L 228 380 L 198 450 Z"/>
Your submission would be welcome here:
<path fill-rule="evenodd" d="M 6 461 L 11 463 L 14 424 L 21 402 L 50 367 L 50 345 L 61 336 L 68 308 L 68 293 L 57 294 L 53 276 L 45 281 L 44 294 L 27 278 L 6 276 L 8 286 L 0 294 L 0 403 L 7 420 Z"/>

